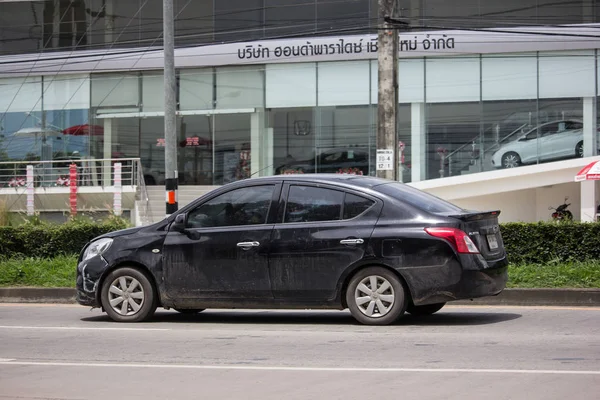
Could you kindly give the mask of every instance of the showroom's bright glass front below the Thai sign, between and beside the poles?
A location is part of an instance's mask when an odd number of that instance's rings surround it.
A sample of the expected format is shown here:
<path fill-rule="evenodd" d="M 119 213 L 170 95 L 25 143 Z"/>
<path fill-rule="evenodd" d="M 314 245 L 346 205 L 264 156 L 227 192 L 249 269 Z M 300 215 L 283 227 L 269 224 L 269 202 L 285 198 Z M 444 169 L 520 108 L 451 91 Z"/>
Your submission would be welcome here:
<path fill-rule="evenodd" d="M 404 182 L 581 157 L 597 50 L 401 59 Z M 182 185 L 250 176 L 375 175 L 377 62 L 180 69 Z M 0 79 L 0 157 L 140 157 L 164 183 L 160 71 Z"/>

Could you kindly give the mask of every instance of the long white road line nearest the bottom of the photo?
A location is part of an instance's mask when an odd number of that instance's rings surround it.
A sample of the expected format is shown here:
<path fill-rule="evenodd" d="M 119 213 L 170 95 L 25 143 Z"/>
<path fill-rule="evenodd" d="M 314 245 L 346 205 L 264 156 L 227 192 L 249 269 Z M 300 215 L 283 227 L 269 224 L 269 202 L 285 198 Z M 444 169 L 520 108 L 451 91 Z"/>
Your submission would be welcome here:
<path fill-rule="evenodd" d="M 95 368 L 151 368 L 151 369 L 204 369 L 282 372 L 421 372 L 421 373 L 478 373 L 478 374 L 533 374 L 533 375 L 600 375 L 598 371 L 557 369 L 478 369 L 478 368 L 352 368 L 352 367 L 278 367 L 259 365 L 193 365 L 193 364 L 135 364 L 135 363 L 84 363 L 53 361 L 12 361 L 0 359 L 0 365 L 28 365 L 43 367 L 95 367 Z"/>

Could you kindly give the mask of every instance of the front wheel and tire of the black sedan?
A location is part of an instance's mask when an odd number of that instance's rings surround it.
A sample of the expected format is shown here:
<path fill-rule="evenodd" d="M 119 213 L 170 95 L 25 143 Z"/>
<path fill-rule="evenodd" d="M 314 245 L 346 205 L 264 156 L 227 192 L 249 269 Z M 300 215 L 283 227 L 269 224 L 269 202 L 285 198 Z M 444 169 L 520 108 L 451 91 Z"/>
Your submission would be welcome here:
<path fill-rule="evenodd" d="M 133 280 L 138 282 L 135 287 L 133 287 Z M 122 282 L 125 282 L 124 286 L 128 289 L 132 287 L 131 292 L 128 292 L 127 296 L 118 294 L 120 288 L 123 287 Z M 114 286 L 114 291 L 110 291 L 111 286 Z M 136 296 L 134 297 L 133 294 L 136 294 Z M 125 306 L 123 305 L 124 300 L 119 302 L 119 298 L 123 299 L 124 297 L 128 301 L 128 304 Z M 111 299 L 113 300 L 113 305 L 111 305 Z M 146 273 L 132 267 L 117 268 L 106 276 L 102 284 L 100 300 L 106 314 L 116 322 L 146 321 L 154 314 L 157 307 L 157 294 L 150 282 L 150 278 L 148 278 Z M 134 309 L 132 302 L 139 307 L 138 310 Z M 115 308 L 118 308 L 119 311 Z M 126 309 L 125 313 L 122 311 L 124 309 Z"/>

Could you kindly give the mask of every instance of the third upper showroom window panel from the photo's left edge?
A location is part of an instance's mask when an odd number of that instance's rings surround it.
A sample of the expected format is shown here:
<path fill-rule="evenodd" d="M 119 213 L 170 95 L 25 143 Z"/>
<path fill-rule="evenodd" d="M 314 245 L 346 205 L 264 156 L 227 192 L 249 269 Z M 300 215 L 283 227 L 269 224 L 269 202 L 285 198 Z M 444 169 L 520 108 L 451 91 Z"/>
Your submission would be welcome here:
<path fill-rule="evenodd" d="M 92 75 L 93 107 L 137 107 L 139 77 L 137 74 Z"/>

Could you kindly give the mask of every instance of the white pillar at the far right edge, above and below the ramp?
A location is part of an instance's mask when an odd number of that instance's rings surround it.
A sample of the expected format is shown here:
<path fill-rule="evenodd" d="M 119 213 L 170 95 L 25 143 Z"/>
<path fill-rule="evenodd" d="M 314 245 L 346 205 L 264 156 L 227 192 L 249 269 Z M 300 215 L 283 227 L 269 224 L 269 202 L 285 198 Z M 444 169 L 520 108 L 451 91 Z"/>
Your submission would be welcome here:
<path fill-rule="evenodd" d="M 596 98 L 583 99 L 583 156 L 598 154 Z M 593 222 L 596 218 L 596 182 L 581 182 L 581 222 Z"/>

